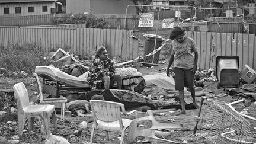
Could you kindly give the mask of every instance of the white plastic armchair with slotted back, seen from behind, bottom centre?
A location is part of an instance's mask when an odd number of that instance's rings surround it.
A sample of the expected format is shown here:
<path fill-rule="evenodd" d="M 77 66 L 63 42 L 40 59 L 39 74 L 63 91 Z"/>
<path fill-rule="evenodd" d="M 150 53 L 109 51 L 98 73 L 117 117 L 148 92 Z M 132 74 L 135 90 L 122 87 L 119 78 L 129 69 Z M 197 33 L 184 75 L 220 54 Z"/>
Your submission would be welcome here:
<path fill-rule="evenodd" d="M 92 113 L 94 119 L 90 143 L 93 142 L 95 129 L 105 130 L 107 132 L 107 140 L 109 140 L 108 132 L 119 132 L 121 133 L 120 143 L 123 143 L 125 130 L 130 126 L 132 120 L 122 119 L 121 111 L 126 116 L 130 116 L 131 114 L 135 113 L 135 117 L 137 118 L 137 110 L 132 110 L 129 113 L 126 113 L 124 104 L 113 101 L 90 100 L 89 103 L 92 111 L 89 111 L 88 104 L 85 104 L 85 107 L 89 113 Z"/>

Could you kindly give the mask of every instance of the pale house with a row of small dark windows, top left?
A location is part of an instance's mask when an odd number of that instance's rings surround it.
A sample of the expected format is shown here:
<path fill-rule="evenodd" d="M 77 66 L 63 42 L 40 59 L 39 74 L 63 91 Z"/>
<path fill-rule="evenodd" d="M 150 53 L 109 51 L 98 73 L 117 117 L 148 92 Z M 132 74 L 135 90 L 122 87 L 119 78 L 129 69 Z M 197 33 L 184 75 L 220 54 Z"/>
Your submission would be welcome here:
<path fill-rule="evenodd" d="M 55 14 L 57 0 L 0 0 L 0 16 Z"/>

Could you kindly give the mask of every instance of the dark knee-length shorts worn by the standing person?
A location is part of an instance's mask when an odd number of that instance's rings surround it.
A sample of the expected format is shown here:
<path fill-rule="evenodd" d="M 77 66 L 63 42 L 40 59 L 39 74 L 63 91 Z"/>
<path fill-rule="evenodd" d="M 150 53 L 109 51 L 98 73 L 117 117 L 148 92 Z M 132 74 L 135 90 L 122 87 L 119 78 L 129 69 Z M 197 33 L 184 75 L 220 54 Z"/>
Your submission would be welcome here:
<path fill-rule="evenodd" d="M 192 89 L 194 87 L 194 72 L 191 69 L 174 68 L 175 73 L 175 89 L 184 90 L 184 87 Z"/>

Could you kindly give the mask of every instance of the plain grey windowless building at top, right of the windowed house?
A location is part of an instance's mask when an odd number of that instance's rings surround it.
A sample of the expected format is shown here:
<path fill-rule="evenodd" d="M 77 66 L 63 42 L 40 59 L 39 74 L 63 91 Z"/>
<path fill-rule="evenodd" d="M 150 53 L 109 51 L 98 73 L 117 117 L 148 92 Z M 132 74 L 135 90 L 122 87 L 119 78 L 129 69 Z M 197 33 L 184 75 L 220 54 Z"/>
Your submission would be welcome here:
<path fill-rule="evenodd" d="M 133 5 L 133 2 L 130 0 L 66 0 L 66 13 L 126 14 L 128 5 Z"/>

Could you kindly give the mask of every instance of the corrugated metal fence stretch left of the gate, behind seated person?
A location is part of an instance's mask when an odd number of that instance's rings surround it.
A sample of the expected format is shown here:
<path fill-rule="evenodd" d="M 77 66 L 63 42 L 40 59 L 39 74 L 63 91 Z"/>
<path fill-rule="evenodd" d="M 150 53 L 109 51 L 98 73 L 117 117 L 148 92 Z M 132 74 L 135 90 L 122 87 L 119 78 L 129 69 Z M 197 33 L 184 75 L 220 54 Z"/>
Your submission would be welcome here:
<path fill-rule="evenodd" d="M 123 34 L 123 38 L 122 38 Z M 138 56 L 139 41 L 130 37 L 131 30 L 57 27 L 0 27 L 0 45 L 36 43 L 48 53 L 59 47 L 70 47 L 70 52 L 94 55 L 104 45 L 111 56 L 131 60 Z M 123 47 L 123 50 L 121 50 Z"/>

